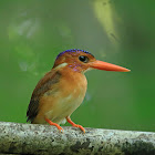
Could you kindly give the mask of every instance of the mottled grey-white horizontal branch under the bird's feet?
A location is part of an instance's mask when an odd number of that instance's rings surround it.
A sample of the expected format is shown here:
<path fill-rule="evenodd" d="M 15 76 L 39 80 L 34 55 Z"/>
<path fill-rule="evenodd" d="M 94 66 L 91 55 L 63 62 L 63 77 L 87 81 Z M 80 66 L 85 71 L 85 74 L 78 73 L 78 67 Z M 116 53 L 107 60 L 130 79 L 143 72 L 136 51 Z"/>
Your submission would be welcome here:
<path fill-rule="evenodd" d="M 155 133 L 0 123 L 1 154 L 155 155 Z"/>

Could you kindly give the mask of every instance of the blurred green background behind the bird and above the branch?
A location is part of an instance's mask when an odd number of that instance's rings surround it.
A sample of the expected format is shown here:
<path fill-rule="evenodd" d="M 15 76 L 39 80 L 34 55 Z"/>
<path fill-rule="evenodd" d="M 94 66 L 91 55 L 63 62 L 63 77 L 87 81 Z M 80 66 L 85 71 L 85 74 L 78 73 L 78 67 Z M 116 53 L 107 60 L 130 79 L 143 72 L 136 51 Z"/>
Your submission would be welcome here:
<path fill-rule="evenodd" d="M 0 121 L 25 123 L 32 91 L 55 56 L 82 49 L 132 72 L 87 72 L 87 93 L 72 120 L 85 127 L 155 132 L 154 6 L 153 0 L 1 0 Z"/>

